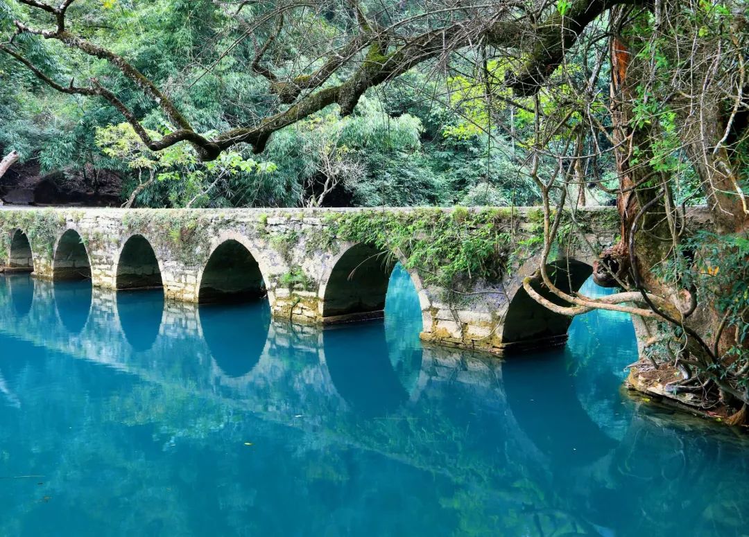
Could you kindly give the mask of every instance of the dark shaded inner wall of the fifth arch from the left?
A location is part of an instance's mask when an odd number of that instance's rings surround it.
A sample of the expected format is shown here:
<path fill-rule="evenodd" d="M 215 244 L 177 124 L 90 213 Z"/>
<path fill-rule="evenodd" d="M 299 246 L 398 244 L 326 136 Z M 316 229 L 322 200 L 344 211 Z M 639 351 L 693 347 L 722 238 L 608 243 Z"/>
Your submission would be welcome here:
<path fill-rule="evenodd" d="M 324 322 L 381 319 L 394 267 L 392 255 L 372 245 L 349 248 L 333 267 L 325 286 Z"/>

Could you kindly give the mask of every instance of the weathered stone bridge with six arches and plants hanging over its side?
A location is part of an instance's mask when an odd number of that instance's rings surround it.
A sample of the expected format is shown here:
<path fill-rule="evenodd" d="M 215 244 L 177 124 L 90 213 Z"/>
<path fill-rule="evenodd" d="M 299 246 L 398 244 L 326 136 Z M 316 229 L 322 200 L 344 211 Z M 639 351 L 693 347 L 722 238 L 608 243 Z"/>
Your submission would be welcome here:
<path fill-rule="evenodd" d="M 616 239 L 618 215 L 589 207 L 565 218 L 551 272 L 577 290 Z M 539 266 L 538 208 L 15 209 L 0 211 L 0 228 L 7 271 L 163 287 L 187 302 L 267 295 L 272 315 L 292 322 L 383 316 L 398 261 L 419 294 L 423 340 L 502 353 L 564 343 L 571 322 L 522 288 Z"/>

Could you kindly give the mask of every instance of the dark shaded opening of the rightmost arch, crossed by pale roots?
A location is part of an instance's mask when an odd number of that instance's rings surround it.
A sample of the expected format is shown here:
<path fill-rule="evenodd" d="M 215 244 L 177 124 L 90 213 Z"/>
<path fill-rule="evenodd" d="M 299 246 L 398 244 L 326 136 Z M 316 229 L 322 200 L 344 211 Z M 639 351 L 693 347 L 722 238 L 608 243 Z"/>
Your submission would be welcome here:
<path fill-rule="evenodd" d="M 564 292 L 577 292 L 585 283 L 592 267 L 573 259 L 554 261 L 548 265 L 551 281 Z M 540 295 L 554 304 L 568 305 L 533 278 L 531 285 Z M 572 318 L 554 313 L 530 298 L 521 286 L 510 301 L 502 328 L 502 343 L 506 351 L 560 345 L 567 340 L 567 329 Z"/>

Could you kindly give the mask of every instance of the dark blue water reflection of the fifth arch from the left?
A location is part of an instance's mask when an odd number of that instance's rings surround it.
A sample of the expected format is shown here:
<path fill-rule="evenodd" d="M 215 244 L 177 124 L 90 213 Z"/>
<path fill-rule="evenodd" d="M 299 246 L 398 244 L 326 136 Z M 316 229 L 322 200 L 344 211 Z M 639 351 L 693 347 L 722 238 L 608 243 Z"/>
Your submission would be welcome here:
<path fill-rule="evenodd" d="M 382 323 L 357 330 L 330 328 L 324 331 L 323 347 L 333 385 L 354 410 L 383 416 L 409 399 L 392 369 Z"/>

